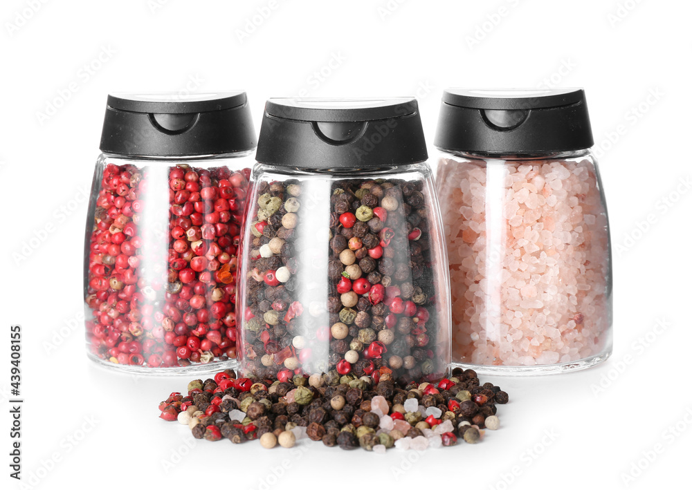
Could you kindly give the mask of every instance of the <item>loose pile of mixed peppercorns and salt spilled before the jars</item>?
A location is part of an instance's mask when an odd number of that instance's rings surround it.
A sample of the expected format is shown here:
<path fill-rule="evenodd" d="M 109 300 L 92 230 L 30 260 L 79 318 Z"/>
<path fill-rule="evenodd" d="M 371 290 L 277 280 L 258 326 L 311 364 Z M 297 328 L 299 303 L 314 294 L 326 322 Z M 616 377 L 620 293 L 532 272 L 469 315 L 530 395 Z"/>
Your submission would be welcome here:
<path fill-rule="evenodd" d="M 390 376 L 374 384 L 351 374 L 326 386 L 324 375 L 253 383 L 226 370 L 191 381 L 187 396 L 172 393 L 159 405 L 160 417 L 188 425 L 197 439 L 259 439 L 268 449 L 291 447 L 303 437 L 377 453 L 393 446 L 422 451 L 459 440 L 475 444 L 484 429 L 499 428 L 497 405 L 509 396 L 491 383 L 481 385 L 471 369 L 452 374 L 437 385 L 406 386 Z"/>

